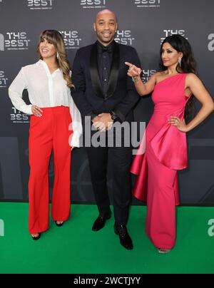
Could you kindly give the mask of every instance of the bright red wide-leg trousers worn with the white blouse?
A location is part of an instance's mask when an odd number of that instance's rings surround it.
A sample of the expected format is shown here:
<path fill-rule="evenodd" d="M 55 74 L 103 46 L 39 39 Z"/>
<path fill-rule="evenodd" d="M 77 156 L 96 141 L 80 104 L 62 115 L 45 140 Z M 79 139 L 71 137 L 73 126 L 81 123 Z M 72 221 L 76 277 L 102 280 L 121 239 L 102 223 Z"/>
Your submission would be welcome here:
<path fill-rule="evenodd" d="M 54 221 L 66 221 L 70 215 L 71 147 L 68 107 L 41 108 L 41 117 L 31 115 L 29 130 L 29 232 L 49 228 L 49 160 L 54 153 L 54 190 L 51 215 Z"/>

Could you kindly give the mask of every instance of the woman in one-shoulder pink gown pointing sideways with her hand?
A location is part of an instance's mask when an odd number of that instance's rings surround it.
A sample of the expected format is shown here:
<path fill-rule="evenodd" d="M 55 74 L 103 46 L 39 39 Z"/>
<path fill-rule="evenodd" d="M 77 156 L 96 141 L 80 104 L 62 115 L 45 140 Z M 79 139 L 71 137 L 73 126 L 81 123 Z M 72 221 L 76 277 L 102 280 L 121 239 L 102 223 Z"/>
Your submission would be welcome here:
<path fill-rule="evenodd" d="M 155 105 L 138 154 L 131 165 L 137 175 L 133 195 L 147 202 L 146 234 L 158 252 L 167 253 L 175 245 L 175 205 L 179 205 L 177 170 L 187 167 L 185 133 L 200 124 L 213 111 L 213 99 L 195 75 L 195 61 L 188 41 L 168 36 L 161 45 L 161 72 L 147 83 L 141 81 L 141 68 L 127 63 L 141 96 L 153 91 Z M 185 124 L 193 99 L 202 104 L 195 118 Z M 185 113 L 186 112 L 186 113 Z"/>

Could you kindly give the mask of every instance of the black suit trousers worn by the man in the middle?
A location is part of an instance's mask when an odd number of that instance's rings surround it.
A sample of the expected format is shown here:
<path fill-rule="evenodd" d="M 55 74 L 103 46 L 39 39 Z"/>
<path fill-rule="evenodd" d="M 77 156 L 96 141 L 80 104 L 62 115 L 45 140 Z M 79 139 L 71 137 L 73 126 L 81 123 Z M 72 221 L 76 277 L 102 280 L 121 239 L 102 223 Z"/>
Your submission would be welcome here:
<path fill-rule="evenodd" d="M 91 137 L 93 137 L 95 133 L 99 133 L 99 135 L 102 134 L 101 138 L 106 139 L 106 147 L 91 146 L 86 148 L 91 170 L 91 182 L 98 211 L 101 215 L 108 215 L 110 212 L 110 200 L 107 188 L 108 168 L 111 170 L 108 174 L 113 178 L 111 181 L 111 189 L 113 192 L 113 212 L 116 224 L 126 225 L 128 220 L 128 206 L 131 202 L 131 173 L 129 172 L 131 165 L 131 145 L 125 147 L 127 143 L 124 141 L 123 133 L 119 135 L 121 140 L 120 147 L 116 145 L 116 140 L 119 140 L 116 133 L 111 135 L 111 140 L 113 138 L 114 142 L 111 143 L 111 145 L 108 145 L 110 137 L 107 132 L 93 131 Z"/>

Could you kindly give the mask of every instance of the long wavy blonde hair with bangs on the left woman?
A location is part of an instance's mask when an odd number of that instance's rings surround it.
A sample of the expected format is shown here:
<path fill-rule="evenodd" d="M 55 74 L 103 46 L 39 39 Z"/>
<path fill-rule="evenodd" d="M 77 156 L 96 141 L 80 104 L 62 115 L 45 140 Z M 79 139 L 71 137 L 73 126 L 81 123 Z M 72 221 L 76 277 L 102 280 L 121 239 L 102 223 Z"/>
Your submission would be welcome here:
<path fill-rule="evenodd" d="M 37 46 L 37 51 L 39 53 L 39 58 L 41 60 L 43 60 L 43 58 L 39 51 L 39 45 L 41 41 L 43 41 L 44 39 L 52 43 L 54 47 L 56 48 L 56 51 L 57 51 L 56 61 L 58 63 L 59 68 L 61 68 L 61 71 L 63 73 L 63 78 L 65 79 L 67 86 L 69 88 L 73 87 L 73 83 L 71 81 L 70 66 L 69 66 L 68 58 L 66 56 L 66 47 L 63 41 L 63 36 L 61 36 L 61 34 L 56 30 L 45 30 L 41 33 L 39 43 Z"/>

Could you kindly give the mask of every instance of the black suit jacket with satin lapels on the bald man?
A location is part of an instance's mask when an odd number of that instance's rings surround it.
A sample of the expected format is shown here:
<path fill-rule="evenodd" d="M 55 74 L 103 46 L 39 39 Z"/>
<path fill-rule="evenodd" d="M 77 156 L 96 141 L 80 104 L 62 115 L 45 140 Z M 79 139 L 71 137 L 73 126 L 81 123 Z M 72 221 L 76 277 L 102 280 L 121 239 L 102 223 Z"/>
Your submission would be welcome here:
<path fill-rule="evenodd" d="M 73 61 L 71 96 L 82 116 L 113 111 L 124 121 L 133 120 L 133 106 L 139 99 L 125 61 L 141 67 L 136 50 L 115 43 L 107 96 L 104 97 L 98 75 L 97 43 L 80 48 Z"/>

